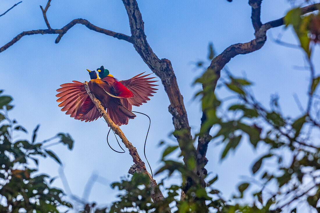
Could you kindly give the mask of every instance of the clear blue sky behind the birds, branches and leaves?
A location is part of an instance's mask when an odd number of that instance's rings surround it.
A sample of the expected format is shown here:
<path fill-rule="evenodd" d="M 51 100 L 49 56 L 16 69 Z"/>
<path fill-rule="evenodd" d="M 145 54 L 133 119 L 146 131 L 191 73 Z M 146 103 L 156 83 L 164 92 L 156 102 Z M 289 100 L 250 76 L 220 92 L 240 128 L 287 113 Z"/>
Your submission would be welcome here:
<path fill-rule="evenodd" d="M 17 1 L 1 1 L 0 13 L 15 3 Z M 39 8 L 39 5 L 44 7 L 46 3 L 46 0 L 24 0 L 0 17 L 0 46 L 22 31 L 46 29 Z M 192 83 L 201 72 L 195 71 L 194 62 L 207 58 L 210 42 L 213 42 L 216 52 L 221 53 L 231 44 L 252 40 L 251 7 L 248 1 L 236 0 L 232 3 L 226 0 L 138 0 L 138 5 L 148 43 L 160 59 L 166 58 L 172 63 L 184 97 L 189 124 L 196 133 L 200 126 L 201 108 L 198 101 L 193 100 L 199 88 L 193 87 Z M 286 0 L 263 1 L 262 23 L 283 17 L 291 6 Z M 120 0 L 52 0 L 47 17 L 52 28 L 62 28 L 73 19 L 83 18 L 101 28 L 130 35 L 127 13 Z M 279 33 L 284 34 L 284 41 L 297 43 L 291 29 L 270 29 L 267 42 L 260 50 L 238 55 L 227 66 L 233 75 L 243 76 L 245 73 L 255 83 L 252 90 L 261 103 L 268 106 L 270 95 L 278 94 L 284 114 L 298 116 L 299 109 L 293 94 L 296 93 L 306 106 L 309 72 L 294 68 L 304 65 L 302 51 L 272 42 L 271 35 L 276 37 Z M 132 157 L 128 152 L 118 154 L 108 147 L 108 126 L 101 119 L 81 122 L 61 112 L 56 102 L 56 89 L 72 80 L 90 80 L 86 69 L 93 70 L 101 65 L 119 80 L 151 71 L 131 43 L 97 33 L 83 25 L 72 27 L 58 44 L 54 43 L 56 37 L 41 34 L 24 36 L 1 52 L 0 89 L 14 98 L 15 108 L 10 113 L 11 118 L 16 118 L 29 132 L 41 124 L 38 141 L 58 132 L 70 133 L 75 140 L 72 151 L 62 145 L 54 146 L 52 150 L 63 162 L 72 193 L 82 196 L 84 185 L 95 172 L 105 178 L 100 180 L 106 185 L 95 183 L 88 201 L 108 204 L 115 200 L 117 194 L 108 185 L 126 175 L 133 164 Z M 316 47 L 314 58 L 319 54 L 320 49 Z M 319 70 L 320 61 L 314 60 L 314 65 Z M 133 107 L 133 110 L 151 117 L 146 151 L 154 172 L 160 166 L 162 153 L 157 145 L 161 140 L 173 142 L 168 135 L 174 130 L 167 95 L 162 85 L 157 88 L 159 90 L 148 103 Z M 226 95 L 218 91 L 219 97 Z M 138 114 L 121 129 L 142 157 L 148 119 Z M 22 133 L 20 136 L 24 137 Z M 31 133 L 27 137 L 31 137 Z M 114 138 L 111 140 L 117 149 Z M 218 173 L 216 186 L 229 198 L 236 192 L 236 185 L 242 176 L 251 175 L 252 162 L 258 155 L 247 141 L 242 141 L 234 155 L 229 154 L 227 160 L 220 162 L 221 149 L 222 146 L 209 144 L 206 169 L 212 172 L 212 176 Z M 39 170 L 51 176 L 58 175 L 58 168 L 52 159 L 40 161 Z M 159 181 L 160 177 L 155 179 Z M 61 180 L 55 180 L 54 185 L 62 187 Z"/>

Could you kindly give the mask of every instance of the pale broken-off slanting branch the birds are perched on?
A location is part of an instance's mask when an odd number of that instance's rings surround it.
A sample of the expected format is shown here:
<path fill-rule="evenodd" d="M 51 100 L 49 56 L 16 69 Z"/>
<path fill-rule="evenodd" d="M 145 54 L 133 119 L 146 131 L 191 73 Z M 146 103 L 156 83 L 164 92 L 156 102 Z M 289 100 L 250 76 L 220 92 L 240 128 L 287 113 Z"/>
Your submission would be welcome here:
<path fill-rule="evenodd" d="M 121 131 L 119 126 L 117 126 L 109 117 L 107 112 L 104 110 L 104 107 L 102 106 L 101 102 L 92 94 L 92 92 L 89 89 L 88 82 L 84 82 L 84 88 L 87 91 L 88 95 L 90 96 L 92 102 L 95 104 L 95 106 L 98 108 L 98 111 L 102 115 L 102 117 L 106 120 L 108 125 L 111 127 L 113 131 L 122 139 L 122 142 L 124 143 L 125 147 L 129 149 L 129 154 L 132 156 L 132 160 L 134 162 L 134 165 L 130 168 L 129 173 L 133 174 L 134 172 L 141 172 L 149 177 L 150 180 L 150 186 L 153 189 L 150 196 L 154 202 L 162 201 L 164 200 L 164 196 L 162 192 L 160 191 L 156 181 L 151 177 L 149 172 L 146 169 L 146 166 L 144 162 L 141 160 L 136 148 L 132 146 L 132 144 L 129 142 L 129 140 L 125 137 L 124 133 Z M 169 206 L 168 206 L 169 209 Z M 167 209 L 167 212 L 170 212 L 170 210 Z"/>

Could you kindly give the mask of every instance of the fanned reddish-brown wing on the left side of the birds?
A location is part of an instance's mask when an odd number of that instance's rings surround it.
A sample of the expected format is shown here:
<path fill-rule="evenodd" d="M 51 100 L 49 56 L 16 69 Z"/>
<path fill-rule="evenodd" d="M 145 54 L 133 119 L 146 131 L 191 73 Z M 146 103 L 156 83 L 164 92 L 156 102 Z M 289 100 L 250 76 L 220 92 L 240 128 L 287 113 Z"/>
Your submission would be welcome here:
<path fill-rule="evenodd" d="M 59 93 L 56 97 L 60 97 L 57 102 L 61 102 L 58 105 L 62 107 L 61 111 L 67 111 L 66 114 L 70 117 L 85 122 L 100 118 L 101 114 L 85 91 L 83 83 L 72 82 L 61 84 L 61 88 L 57 90 Z"/>

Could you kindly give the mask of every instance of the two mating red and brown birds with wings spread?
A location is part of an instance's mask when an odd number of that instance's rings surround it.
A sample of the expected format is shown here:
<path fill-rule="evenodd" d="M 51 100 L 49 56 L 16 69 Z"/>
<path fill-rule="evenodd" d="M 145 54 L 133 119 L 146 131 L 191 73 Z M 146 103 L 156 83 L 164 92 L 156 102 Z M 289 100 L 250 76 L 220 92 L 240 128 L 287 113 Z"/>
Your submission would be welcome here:
<path fill-rule="evenodd" d="M 88 70 L 88 69 L 87 69 Z M 153 96 L 157 89 L 151 81 L 155 77 L 147 77 L 148 75 L 136 75 L 128 80 L 118 81 L 109 70 L 103 66 L 97 69 L 99 77 L 95 71 L 88 70 L 90 81 L 88 86 L 90 91 L 98 98 L 111 120 L 121 126 L 128 124 L 129 119 L 133 119 L 136 115 L 131 112 L 132 105 L 140 106 L 150 100 L 148 97 Z M 61 88 L 56 97 L 57 102 L 61 102 L 58 106 L 62 107 L 61 111 L 67 111 L 70 117 L 74 117 L 81 121 L 93 121 L 101 117 L 98 108 L 94 105 L 89 95 L 85 91 L 84 84 L 78 81 L 73 83 L 61 84 Z"/>

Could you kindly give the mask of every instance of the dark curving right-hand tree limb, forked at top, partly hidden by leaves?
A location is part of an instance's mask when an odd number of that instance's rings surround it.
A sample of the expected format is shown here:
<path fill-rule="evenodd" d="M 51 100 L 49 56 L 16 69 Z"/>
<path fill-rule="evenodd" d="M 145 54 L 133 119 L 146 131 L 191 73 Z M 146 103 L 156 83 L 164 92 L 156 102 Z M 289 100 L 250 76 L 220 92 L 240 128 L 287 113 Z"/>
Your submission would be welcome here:
<path fill-rule="evenodd" d="M 212 59 L 210 66 L 208 67 L 206 72 L 211 72 L 212 75 L 216 75 L 216 79 L 214 81 L 213 88 L 216 87 L 217 81 L 220 78 L 220 71 L 221 69 L 236 55 L 239 54 L 247 54 L 256 50 L 259 50 L 267 40 L 267 30 L 270 28 L 279 27 L 284 25 L 284 17 L 269 21 L 259 27 L 260 17 L 258 18 L 257 15 L 260 15 L 260 4 L 261 0 L 249 0 L 249 4 L 252 6 L 252 25 L 255 28 L 255 39 L 247 43 L 237 43 L 229 46 L 225 49 L 220 55 L 216 56 Z M 259 5 L 259 6 L 258 6 Z M 313 12 L 318 10 L 320 3 L 311 4 L 306 7 L 301 8 L 301 15 L 306 14 L 308 12 Z M 259 12 L 258 12 L 259 9 Z M 206 120 L 205 111 L 203 111 L 201 124 L 204 123 Z M 210 130 L 211 128 L 209 128 Z M 211 136 L 209 135 L 209 130 L 201 137 L 198 138 L 198 146 L 197 151 L 201 155 L 200 158 L 197 159 L 197 172 L 200 176 L 205 176 L 207 171 L 204 169 L 204 166 L 208 162 L 205 155 L 208 148 L 208 143 L 211 140 Z"/>

